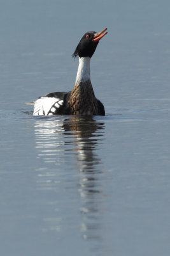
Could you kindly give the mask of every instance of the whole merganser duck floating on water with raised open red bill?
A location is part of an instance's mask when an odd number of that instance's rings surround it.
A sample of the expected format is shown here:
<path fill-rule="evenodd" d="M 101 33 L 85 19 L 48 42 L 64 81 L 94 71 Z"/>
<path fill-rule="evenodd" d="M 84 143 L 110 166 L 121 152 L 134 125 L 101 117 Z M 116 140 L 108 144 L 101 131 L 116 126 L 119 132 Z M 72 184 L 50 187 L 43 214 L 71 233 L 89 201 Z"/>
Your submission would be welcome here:
<path fill-rule="evenodd" d="M 76 82 L 71 92 L 53 92 L 34 102 L 34 116 L 39 115 L 105 115 L 103 104 L 96 99 L 90 81 L 90 59 L 99 40 L 108 32 L 89 31 L 83 35 L 73 57 L 79 57 Z"/>

